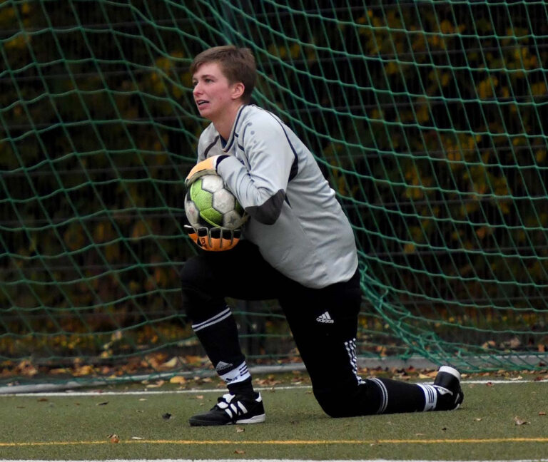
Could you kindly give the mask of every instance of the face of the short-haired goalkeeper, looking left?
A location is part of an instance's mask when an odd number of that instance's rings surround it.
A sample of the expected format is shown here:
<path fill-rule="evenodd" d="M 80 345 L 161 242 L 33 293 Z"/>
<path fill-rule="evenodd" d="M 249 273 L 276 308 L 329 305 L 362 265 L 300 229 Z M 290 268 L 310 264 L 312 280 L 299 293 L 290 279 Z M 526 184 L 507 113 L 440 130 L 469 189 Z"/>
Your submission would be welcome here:
<path fill-rule="evenodd" d="M 216 62 L 203 63 L 192 76 L 194 102 L 204 118 L 215 121 L 241 96 L 241 83 L 230 84 Z"/>

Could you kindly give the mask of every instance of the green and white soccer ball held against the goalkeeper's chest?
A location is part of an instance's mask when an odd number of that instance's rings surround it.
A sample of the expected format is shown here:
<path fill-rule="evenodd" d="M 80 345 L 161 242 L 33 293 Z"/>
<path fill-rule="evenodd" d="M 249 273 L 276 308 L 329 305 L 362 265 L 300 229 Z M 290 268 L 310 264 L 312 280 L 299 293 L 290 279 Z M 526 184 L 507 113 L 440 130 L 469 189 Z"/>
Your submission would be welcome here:
<path fill-rule="evenodd" d="M 195 227 L 223 227 L 236 230 L 245 223 L 248 215 L 233 193 L 225 188 L 219 175 L 203 175 L 188 188 L 185 196 L 185 213 Z"/>

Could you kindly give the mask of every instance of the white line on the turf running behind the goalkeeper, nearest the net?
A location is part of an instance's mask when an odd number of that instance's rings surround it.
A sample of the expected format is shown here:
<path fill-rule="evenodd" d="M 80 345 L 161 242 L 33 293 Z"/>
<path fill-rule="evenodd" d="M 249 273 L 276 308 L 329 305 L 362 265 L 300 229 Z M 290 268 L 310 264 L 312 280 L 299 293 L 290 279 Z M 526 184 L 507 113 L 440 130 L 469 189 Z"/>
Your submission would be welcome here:
<path fill-rule="evenodd" d="M 480 384 L 480 385 L 516 385 L 516 384 L 542 384 L 548 380 L 463 380 L 461 384 Z M 409 382 L 415 383 L 415 382 Z M 422 383 L 422 382 L 417 382 Z M 268 390 L 296 390 L 296 389 L 312 389 L 310 385 L 294 385 L 294 386 L 261 386 L 255 387 L 257 391 Z M 203 393 L 222 393 L 223 388 L 216 389 L 190 389 L 190 390 L 133 390 L 133 391 L 103 391 L 101 389 L 93 389 L 90 391 L 39 391 L 36 393 L 5 393 L 1 396 L 118 396 L 118 395 L 154 395 L 154 394 L 203 394 Z M 181 459 L 182 461 L 183 459 Z M 0 459 L 0 462 L 2 459 Z M 545 459 L 548 462 L 548 459 Z M 36 461 L 38 462 L 38 461 Z M 197 462 L 197 461 L 194 461 Z M 300 462 L 300 461 L 292 461 Z M 408 462 L 408 461 L 407 461 Z M 537 461 L 535 461 L 537 462 Z"/>

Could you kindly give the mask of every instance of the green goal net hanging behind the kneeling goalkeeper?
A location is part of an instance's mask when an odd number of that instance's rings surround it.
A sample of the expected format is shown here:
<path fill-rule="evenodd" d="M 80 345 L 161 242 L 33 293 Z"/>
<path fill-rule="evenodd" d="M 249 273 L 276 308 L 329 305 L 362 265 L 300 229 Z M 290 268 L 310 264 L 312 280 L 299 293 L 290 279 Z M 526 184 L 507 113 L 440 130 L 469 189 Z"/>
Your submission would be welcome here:
<path fill-rule="evenodd" d="M 544 1 L 4 0 L 0 382 L 208 369 L 177 274 L 188 66 L 225 43 L 350 217 L 360 359 L 546 366 Z M 232 304 L 251 363 L 295 360 L 275 301 Z"/>

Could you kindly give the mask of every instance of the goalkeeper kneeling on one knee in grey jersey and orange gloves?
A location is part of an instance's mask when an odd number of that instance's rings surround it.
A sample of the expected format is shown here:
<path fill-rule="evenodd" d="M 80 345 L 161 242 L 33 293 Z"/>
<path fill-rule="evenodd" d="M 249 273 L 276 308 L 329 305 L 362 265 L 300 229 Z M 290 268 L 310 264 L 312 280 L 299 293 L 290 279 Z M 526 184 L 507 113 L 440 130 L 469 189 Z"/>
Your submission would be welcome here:
<path fill-rule="evenodd" d="M 250 218 L 235 232 L 186 226 L 201 251 L 181 272 L 184 308 L 228 388 L 190 424 L 265 420 L 225 297 L 278 299 L 314 396 L 330 416 L 456 409 L 463 394 L 452 367 L 442 366 L 433 384 L 357 374 L 362 295 L 352 227 L 305 144 L 250 104 L 256 69 L 248 48 L 209 48 L 194 58 L 191 74 L 198 112 L 211 123 L 186 185 L 217 173 Z"/>

